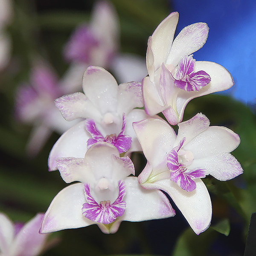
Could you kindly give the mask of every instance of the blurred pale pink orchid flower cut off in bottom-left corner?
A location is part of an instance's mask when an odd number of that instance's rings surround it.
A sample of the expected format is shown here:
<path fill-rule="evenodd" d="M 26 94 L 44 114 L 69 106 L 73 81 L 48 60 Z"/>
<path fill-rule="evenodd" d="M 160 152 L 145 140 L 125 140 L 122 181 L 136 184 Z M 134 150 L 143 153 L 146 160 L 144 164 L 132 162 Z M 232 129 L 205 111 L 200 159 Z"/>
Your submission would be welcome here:
<path fill-rule="evenodd" d="M 46 246 L 47 235 L 39 234 L 44 214 L 37 214 L 25 225 L 12 221 L 0 213 L 0 255 L 37 256 Z"/>

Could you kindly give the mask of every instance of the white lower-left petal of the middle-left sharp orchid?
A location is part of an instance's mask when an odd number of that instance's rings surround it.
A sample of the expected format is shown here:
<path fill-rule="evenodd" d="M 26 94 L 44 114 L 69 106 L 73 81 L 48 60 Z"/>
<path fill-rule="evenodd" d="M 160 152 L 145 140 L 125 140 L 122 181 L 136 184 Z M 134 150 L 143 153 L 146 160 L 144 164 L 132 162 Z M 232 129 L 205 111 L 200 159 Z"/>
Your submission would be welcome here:
<path fill-rule="evenodd" d="M 67 130 L 53 145 L 48 158 L 49 171 L 57 170 L 56 158 L 83 158 L 87 151 L 87 140 L 91 138 L 84 127 L 84 121 Z"/>

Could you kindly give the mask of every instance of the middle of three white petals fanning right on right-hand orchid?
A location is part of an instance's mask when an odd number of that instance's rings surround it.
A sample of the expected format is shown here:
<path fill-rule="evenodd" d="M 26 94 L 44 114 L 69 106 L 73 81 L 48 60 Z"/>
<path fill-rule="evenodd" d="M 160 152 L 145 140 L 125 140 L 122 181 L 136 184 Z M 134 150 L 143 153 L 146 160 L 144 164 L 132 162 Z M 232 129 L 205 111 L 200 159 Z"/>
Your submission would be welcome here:
<path fill-rule="evenodd" d="M 219 153 L 230 153 L 238 147 L 239 135 L 226 127 L 210 126 L 183 148 L 192 151 L 195 159 Z"/>

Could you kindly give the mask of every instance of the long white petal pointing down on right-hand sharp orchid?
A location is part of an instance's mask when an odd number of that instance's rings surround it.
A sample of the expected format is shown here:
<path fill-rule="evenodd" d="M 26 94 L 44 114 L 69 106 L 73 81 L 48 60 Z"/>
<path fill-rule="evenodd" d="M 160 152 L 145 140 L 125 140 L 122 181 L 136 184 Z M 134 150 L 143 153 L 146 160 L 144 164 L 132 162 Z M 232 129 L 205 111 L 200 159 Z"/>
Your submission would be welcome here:
<path fill-rule="evenodd" d="M 196 234 L 205 231 L 212 219 L 212 203 L 204 182 L 195 179 L 196 189 L 186 192 L 173 181 L 166 179 L 148 187 L 162 189 L 170 195 Z"/>

